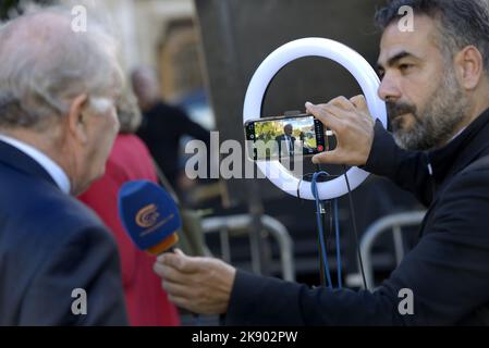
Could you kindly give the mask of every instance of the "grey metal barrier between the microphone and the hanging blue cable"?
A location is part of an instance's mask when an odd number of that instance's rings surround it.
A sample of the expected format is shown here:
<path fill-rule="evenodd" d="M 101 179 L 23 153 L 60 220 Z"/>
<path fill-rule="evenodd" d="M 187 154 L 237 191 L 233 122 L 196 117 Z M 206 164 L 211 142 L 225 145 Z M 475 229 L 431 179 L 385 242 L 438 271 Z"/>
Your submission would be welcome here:
<path fill-rule="evenodd" d="M 227 262 L 231 261 L 231 246 L 229 235 L 231 231 L 247 231 L 252 224 L 252 216 L 248 214 L 217 216 L 203 219 L 203 231 L 206 234 L 219 232 L 222 259 Z M 294 251 L 293 241 L 286 227 L 277 219 L 269 215 L 261 216 L 261 224 L 277 240 L 280 249 L 280 260 L 282 264 L 282 277 L 285 281 L 295 281 Z M 259 259 L 256 256 L 258 250 L 253 250 L 252 244 L 252 266 L 253 270 L 260 270 Z"/>

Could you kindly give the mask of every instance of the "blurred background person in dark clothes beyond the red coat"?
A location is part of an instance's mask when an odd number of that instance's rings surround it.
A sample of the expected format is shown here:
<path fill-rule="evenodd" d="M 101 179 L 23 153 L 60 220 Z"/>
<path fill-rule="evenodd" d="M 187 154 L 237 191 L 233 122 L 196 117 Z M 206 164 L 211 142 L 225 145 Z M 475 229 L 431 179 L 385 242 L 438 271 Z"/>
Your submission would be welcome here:
<path fill-rule="evenodd" d="M 161 100 L 158 79 L 150 69 L 138 67 L 131 77 L 144 115 L 137 134 L 172 187 L 178 188 L 179 176 L 183 175 L 179 165 L 180 139 L 188 135 L 209 148 L 210 133 L 193 122 L 183 110 Z"/>

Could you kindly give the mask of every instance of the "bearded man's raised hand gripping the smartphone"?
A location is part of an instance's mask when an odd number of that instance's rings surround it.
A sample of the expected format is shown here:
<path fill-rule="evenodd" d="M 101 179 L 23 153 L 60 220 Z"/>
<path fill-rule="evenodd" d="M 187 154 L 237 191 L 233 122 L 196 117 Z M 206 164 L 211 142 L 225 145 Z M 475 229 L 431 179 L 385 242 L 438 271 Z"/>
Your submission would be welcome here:
<path fill-rule="evenodd" d="M 347 100 L 338 97 L 327 104 L 306 103 L 307 112 L 315 115 L 337 136 L 337 148 L 316 154 L 314 163 L 364 165 L 374 142 L 375 122 L 364 96 Z"/>

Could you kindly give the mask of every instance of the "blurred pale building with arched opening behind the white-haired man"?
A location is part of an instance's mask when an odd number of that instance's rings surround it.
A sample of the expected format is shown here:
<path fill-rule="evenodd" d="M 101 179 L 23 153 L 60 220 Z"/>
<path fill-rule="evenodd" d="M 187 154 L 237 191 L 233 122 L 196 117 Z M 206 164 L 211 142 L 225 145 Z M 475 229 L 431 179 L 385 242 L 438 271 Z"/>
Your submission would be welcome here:
<path fill-rule="evenodd" d="M 52 1 L 56 2 L 56 1 Z M 127 74 L 139 65 L 158 71 L 163 99 L 183 107 L 206 128 L 215 120 L 205 92 L 204 63 L 192 0 L 60 0 L 85 5 L 108 23 L 122 44 Z M 89 17 L 88 17 L 89 21 Z"/>

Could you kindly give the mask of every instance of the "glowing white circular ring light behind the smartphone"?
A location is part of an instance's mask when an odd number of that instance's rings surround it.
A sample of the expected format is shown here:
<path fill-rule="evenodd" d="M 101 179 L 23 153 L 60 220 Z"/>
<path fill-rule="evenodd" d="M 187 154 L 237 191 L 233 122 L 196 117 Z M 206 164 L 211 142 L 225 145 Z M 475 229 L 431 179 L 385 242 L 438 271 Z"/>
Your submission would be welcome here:
<path fill-rule="evenodd" d="M 378 117 L 386 127 L 386 103 L 377 96 L 380 80 L 374 69 L 360 54 L 347 46 L 325 38 L 304 38 L 291 41 L 265 59 L 249 82 L 243 108 L 243 122 L 254 120 L 261 114 L 265 92 L 277 73 L 290 62 L 304 57 L 323 57 L 343 65 L 362 87 L 372 117 Z M 280 162 L 259 161 L 257 166 L 277 187 L 289 195 L 297 197 L 298 192 L 301 198 L 314 199 L 310 183 L 292 175 Z M 368 176 L 367 172 L 356 166 L 351 167 L 346 174 L 352 189 L 358 187 Z M 321 199 L 333 199 L 347 194 L 343 176 L 319 183 L 317 187 Z"/>

